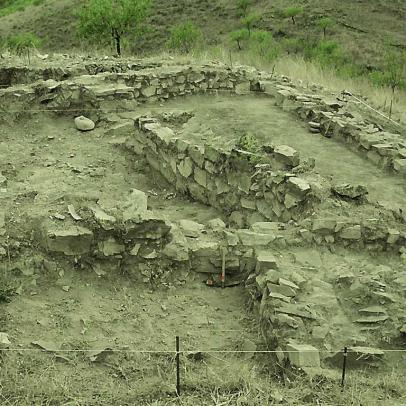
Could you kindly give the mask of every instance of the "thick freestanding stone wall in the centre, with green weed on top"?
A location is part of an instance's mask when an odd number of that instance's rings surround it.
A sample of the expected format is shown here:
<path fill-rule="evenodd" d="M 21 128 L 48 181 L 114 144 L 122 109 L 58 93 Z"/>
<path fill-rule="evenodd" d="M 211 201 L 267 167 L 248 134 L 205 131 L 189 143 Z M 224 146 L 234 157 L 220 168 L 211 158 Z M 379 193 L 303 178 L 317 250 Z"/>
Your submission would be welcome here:
<path fill-rule="evenodd" d="M 287 222 L 312 210 L 316 199 L 311 183 L 294 173 L 301 160 L 288 146 L 269 147 L 267 163 L 255 164 L 255 154 L 191 144 L 155 118 L 140 117 L 136 125 L 140 132 L 134 134 L 134 149 L 151 168 L 177 191 L 221 209 L 232 224 Z"/>

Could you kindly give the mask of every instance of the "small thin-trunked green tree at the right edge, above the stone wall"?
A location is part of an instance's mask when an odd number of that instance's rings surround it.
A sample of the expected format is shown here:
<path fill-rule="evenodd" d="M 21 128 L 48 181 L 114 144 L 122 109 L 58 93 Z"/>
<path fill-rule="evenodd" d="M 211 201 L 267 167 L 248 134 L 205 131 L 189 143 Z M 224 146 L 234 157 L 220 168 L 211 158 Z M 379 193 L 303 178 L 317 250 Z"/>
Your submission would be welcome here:
<path fill-rule="evenodd" d="M 392 108 L 396 89 L 406 86 L 406 53 L 388 51 L 385 55 L 384 70 L 370 74 L 373 83 L 389 86 L 392 97 L 389 107 L 389 118 L 392 118 Z"/>

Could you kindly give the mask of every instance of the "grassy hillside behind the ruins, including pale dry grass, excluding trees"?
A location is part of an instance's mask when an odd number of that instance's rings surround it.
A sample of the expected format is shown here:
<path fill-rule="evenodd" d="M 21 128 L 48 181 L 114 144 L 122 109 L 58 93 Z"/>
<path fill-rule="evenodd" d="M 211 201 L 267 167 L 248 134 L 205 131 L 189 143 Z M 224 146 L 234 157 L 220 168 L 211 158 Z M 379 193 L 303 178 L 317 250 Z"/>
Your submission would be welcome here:
<path fill-rule="evenodd" d="M 242 28 L 237 3 L 238 0 L 153 0 L 147 32 L 141 39 L 127 39 L 124 54 L 141 56 L 164 51 L 171 27 L 190 20 L 202 29 L 206 49 L 221 49 L 223 58 L 227 60 L 229 50 L 232 50 L 235 61 L 258 66 L 261 58 L 251 55 L 247 59 L 244 52 L 238 51 L 236 43 L 230 41 L 230 33 Z M 271 32 L 281 49 L 282 58 L 276 62 L 279 73 L 328 85 L 335 90 L 350 88 L 362 91 L 375 107 L 389 112 L 391 91 L 371 86 L 369 74 L 387 69 L 385 54 L 388 50 L 406 50 L 406 1 L 252 0 L 252 3 L 249 12 L 260 16 L 253 28 Z M 75 35 L 75 13 L 83 4 L 84 0 L 0 0 L 0 40 L 20 32 L 24 27 L 23 31 L 31 31 L 41 37 L 43 52 L 81 51 L 91 54 L 95 52 L 94 47 L 88 42 L 81 43 Z M 284 16 L 284 10 L 292 5 L 303 9 L 295 19 L 296 24 Z M 322 17 L 332 18 L 335 22 L 327 29 L 325 39 L 338 46 L 332 58 L 338 55 L 338 68 L 333 61 L 332 66 L 327 64 L 327 69 L 324 66 L 320 70 L 317 64 L 309 64 L 302 59 L 304 54 L 307 60 L 318 61 L 318 55 L 314 58 L 312 52 L 317 52 L 315 44 L 323 39 L 323 30 L 317 24 Z M 290 44 L 290 48 L 286 44 Z M 102 52 L 109 54 L 114 51 L 111 48 Z M 292 58 L 292 52 L 299 58 Z M 273 65 L 273 61 L 268 62 L 265 68 L 272 69 Z M 406 120 L 404 106 L 406 94 L 404 91 L 397 92 L 396 119 Z"/>

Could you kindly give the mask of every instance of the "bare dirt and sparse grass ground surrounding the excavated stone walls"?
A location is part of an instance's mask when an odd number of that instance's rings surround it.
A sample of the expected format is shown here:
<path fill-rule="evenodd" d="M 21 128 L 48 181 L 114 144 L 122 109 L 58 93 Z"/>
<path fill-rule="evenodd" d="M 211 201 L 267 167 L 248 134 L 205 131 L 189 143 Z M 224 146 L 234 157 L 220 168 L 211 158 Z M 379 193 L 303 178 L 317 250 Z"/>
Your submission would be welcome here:
<path fill-rule="evenodd" d="M 219 145 L 227 146 L 250 131 L 263 143 L 286 143 L 314 157 L 323 176 L 366 183 L 371 201 L 404 206 L 406 190 L 399 178 L 344 144 L 311 134 L 269 99 L 193 96 L 140 106 L 137 114 L 176 109 L 194 113 L 178 126 L 185 139 L 214 135 Z M 204 284 L 207 275 L 177 269 L 154 279 L 143 270 L 117 269 L 114 262 L 72 265 L 36 249 L 30 233 L 40 219 L 68 218 L 68 204 L 99 201 L 113 207 L 134 188 L 148 195 L 150 209 L 170 221 L 205 225 L 224 218 L 178 195 L 143 157 L 124 148 L 123 139 L 106 135 L 104 125 L 81 133 L 73 118 L 43 112 L 0 124 L 0 171 L 6 178 L 0 212 L 12 224 L 2 281 L 16 293 L 10 303 L 0 303 L 0 332 L 7 331 L 13 349 L 2 354 L 2 404 L 405 404 L 400 384 L 406 372 L 404 353 L 389 354 L 376 370 L 350 371 L 349 389 L 340 392 L 339 369 L 311 380 L 282 368 L 273 355 L 208 352 L 266 348 L 241 286 L 211 288 Z M 329 314 L 322 323 L 336 345 L 321 351 L 341 348 L 348 337 L 359 346 L 377 337 L 387 349 L 404 346 L 400 338 L 387 338 L 393 324 L 376 332 L 352 323 L 357 307 L 370 300 L 381 303 L 372 292 L 383 281 L 390 297 L 383 303 L 396 323 L 406 322 L 406 285 L 394 283 L 405 271 L 398 255 L 294 246 L 280 247 L 274 254 L 284 270 L 312 278 L 308 301 L 316 313 Z M 347 277 L 353 280 L 351 287 L 337 286 L 338 279 Z M 190 351 L 182 360 L 183 400 L 173 396 L 176 335 L 182 349 Z"/>

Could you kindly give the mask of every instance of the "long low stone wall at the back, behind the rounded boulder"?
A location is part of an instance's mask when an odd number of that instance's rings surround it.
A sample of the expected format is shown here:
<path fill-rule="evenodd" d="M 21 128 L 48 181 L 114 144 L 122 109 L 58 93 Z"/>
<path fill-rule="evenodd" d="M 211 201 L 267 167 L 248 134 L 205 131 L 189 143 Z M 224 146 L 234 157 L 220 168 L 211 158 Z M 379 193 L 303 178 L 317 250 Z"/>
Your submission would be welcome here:
<path fill-rule="evenodd" d="M 45 110 L 59 110 L 65 114 L 67 110 L 72 110 L 72 114 L 76 115 L 98 110 L 100 116 L 104 108 L 131 111 L 138 103 L 165 101 L 207 91 L 248 93 L 249 74 L 244 69 L 224 66 L 173 66 L 125 73 L 104 72 L 64 81 L 39 81 L 22 86 L 18 91 L 6 88 L 0 90 L 0 102 L 5 106 L 24 102 L 27 108 L 39 104 Z M 121 104 L 109 106 L 110 101 Z"/>

